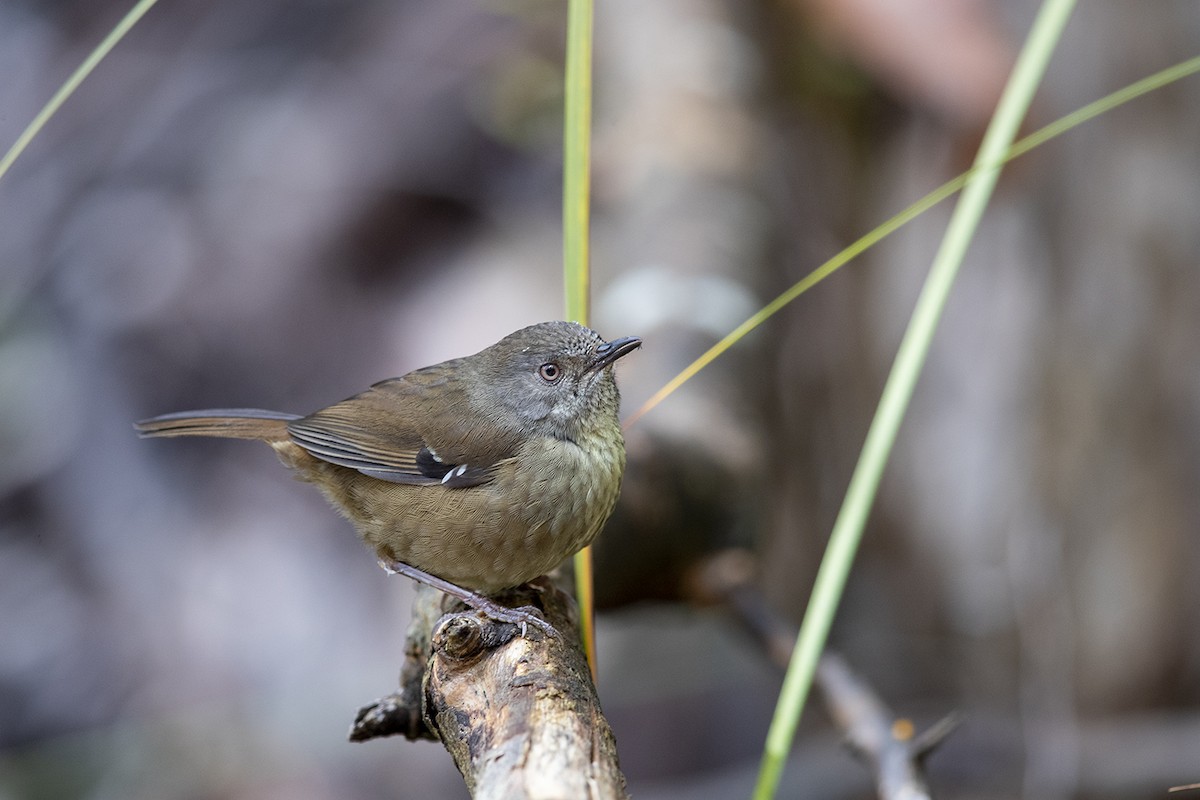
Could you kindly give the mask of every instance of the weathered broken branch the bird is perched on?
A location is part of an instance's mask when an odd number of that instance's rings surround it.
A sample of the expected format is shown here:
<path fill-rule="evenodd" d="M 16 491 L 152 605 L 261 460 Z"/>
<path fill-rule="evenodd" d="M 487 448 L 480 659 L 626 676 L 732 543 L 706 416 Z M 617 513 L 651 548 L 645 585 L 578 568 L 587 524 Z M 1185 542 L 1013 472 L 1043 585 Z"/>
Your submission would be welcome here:
<path fill-rule="evenodd" d="M 442 595 L 424 591 L 400 691 L 362 709 L 350 739 L 440 739 L 476 800 L 626 798 L 574 601 L 547 581 L 505 602 L 536 604 L 559 636 L 518 636 L 474 612 L 442 615 Z"/>

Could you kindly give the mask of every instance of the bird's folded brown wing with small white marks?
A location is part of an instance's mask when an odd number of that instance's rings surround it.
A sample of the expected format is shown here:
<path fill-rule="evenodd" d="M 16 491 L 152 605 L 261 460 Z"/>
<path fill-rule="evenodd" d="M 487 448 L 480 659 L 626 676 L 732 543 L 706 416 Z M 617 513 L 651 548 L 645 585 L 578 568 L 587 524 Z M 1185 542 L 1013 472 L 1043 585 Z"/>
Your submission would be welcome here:
<path fill-rule="evenodd" d="M 371 477 L 464 488 L 490 481 L 518 444 L 481 422 L 461 381 L 428 368 L 289 422 L 288 432 L 312 456 Z"/>

